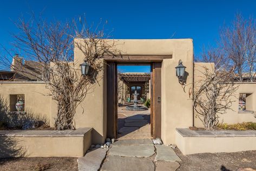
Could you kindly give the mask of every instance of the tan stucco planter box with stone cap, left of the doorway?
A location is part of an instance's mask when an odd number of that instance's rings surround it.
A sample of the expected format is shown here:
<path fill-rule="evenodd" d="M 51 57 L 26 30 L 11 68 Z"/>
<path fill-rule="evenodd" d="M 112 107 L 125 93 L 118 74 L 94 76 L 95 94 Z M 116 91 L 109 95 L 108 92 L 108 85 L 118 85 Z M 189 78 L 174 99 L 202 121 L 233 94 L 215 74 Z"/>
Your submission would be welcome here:
<path fill-rule="evenodd" d="M 0 157 L 81 157 L 90 147 L 91 130 L 0 130 Z"/>

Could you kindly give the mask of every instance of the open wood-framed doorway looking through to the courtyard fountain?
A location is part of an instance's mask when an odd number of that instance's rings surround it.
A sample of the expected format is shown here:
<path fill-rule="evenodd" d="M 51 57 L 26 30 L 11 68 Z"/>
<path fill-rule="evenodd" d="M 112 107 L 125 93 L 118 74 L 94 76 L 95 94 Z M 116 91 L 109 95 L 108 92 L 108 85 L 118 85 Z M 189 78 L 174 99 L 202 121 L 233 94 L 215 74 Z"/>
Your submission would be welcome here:
<path fill-rule="evenodd" d="M 161 137 L 161 58 L 160 60 L 158 58 L 155 59 L 154 56 L 137 56 L 137 58 L 139 62 L 123 62 L 122 60 L 110 60 L 107 62 L 107 137 L 114 137 L 115 139 L 119 137 L 123 139 Z M 122 68 L 126 66 L 139 69 L 139 71 L 136 69 L 132 71 L 123 70 Z M 147 70 L 141 71 L 140 68 L 147 68 Z M 127 76 L 130 74 L 132 76 Z M 146 78 L 149 80 L 144 81 L 143 79 Z M 121 89 L 118 86 L 120 83 L 122 84 L 120 80 L 126 80 L 129 85 Z M 148 90 L 145 91 L 146 82 L 148 82 Z M 127 91 L 128 89 L 129 91 Z M 119 96 L 119 91 L 123 92 L 121 97 Z M 136 101 L 137 108 L 144 108 L 144 101 L 150 103 L 150 107 L 148 106 L 147 110 L 127 111 L 126 108 L 135 105 Z M 136 123 L 137 128 L 122 129 L 120 131 L 122 127 L 128 127 L 128 125 L 129 127 L 136 127 L 135 123 L 126 123 L 132 122 L 130 121 L 132 119 L 140 119 L 143 121 L 139 122 L 145 123 Z M 147 128 L 144 126 L 147 126 Z M 145 128 L 146 132 L 141 131 L 141 128 Z M 134 131 L 136 132 L 134 133 Z M 141 136 L 139 135 L 140 133 Z M 128 134 L 130 134 L 129 137 Z"/>

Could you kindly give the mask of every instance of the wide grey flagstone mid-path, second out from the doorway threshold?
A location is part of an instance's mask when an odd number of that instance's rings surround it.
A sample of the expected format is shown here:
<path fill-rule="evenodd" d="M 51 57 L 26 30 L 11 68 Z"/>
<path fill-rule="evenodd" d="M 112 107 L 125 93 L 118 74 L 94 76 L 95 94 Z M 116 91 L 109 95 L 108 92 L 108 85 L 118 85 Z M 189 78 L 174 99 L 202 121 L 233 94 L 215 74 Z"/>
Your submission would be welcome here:
<path fill-rule="evenodd" d="M 155 148 L 152 145 L 113 146 L 109 150 L 109 155 L 129 157 L 150 157 L 154 154 Z"/>

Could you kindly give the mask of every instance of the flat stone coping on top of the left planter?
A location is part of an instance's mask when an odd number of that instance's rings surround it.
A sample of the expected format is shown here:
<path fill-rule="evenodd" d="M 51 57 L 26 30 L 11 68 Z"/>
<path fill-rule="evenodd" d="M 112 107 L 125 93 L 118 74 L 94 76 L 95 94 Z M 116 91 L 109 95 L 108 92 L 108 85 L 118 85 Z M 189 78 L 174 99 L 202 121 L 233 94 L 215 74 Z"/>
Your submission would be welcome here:
<path fill-rule="evenodd" d="M 0 130 L 0 136 L 23 137 L 83 137 L 93 128 L 78 128 L 76 130 Z"/>

